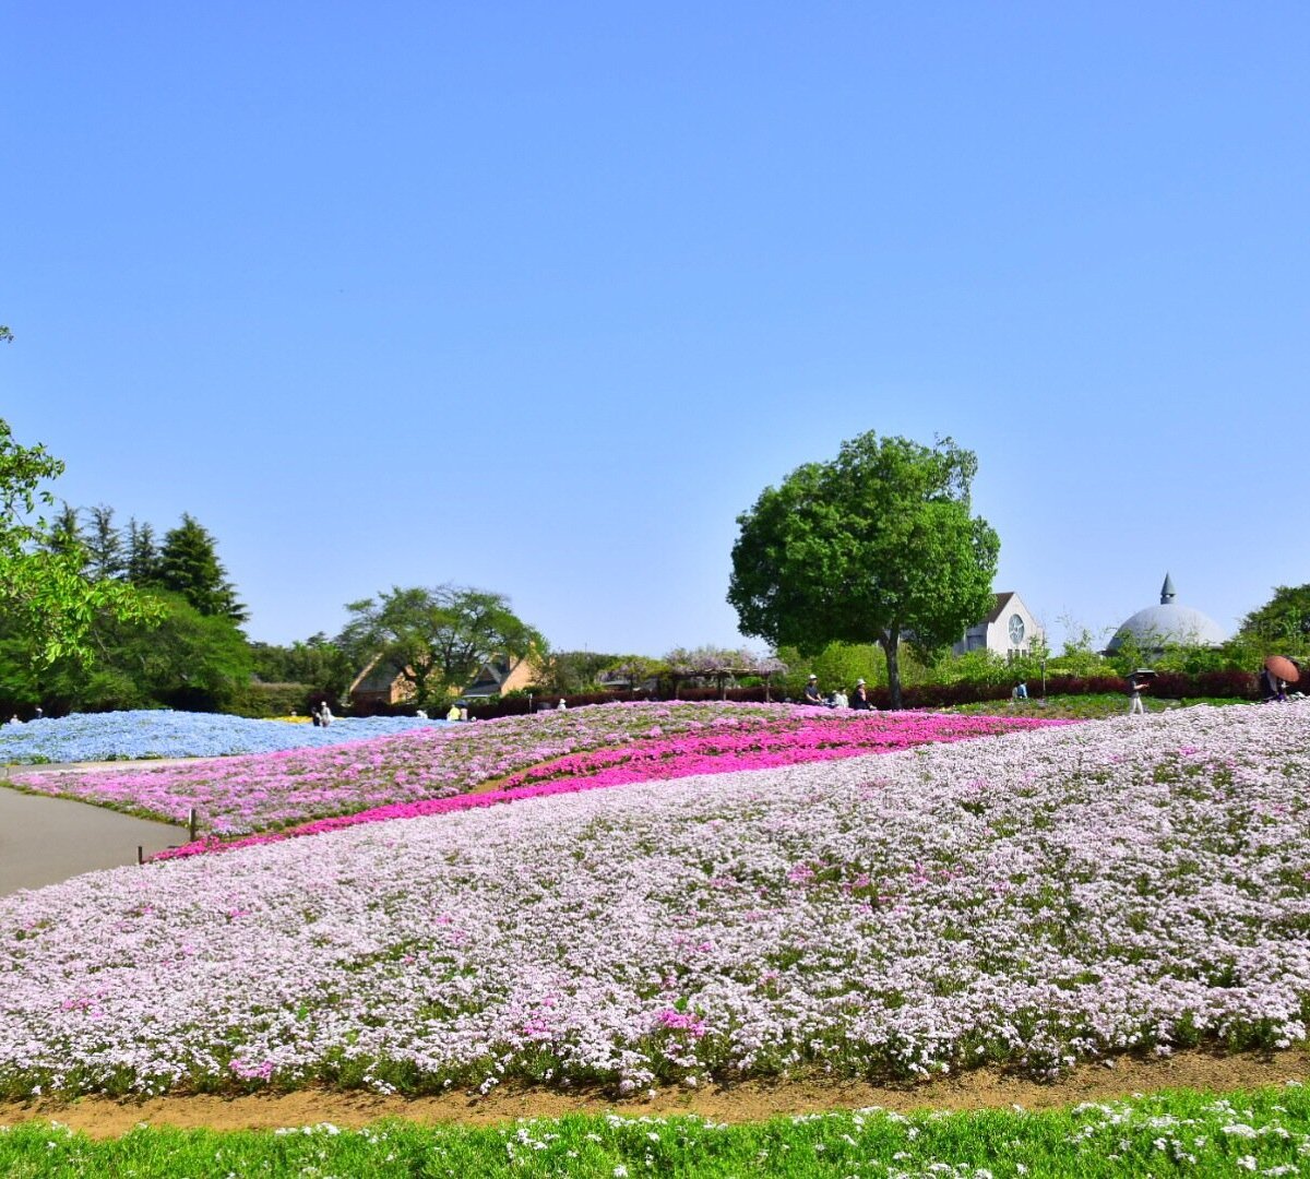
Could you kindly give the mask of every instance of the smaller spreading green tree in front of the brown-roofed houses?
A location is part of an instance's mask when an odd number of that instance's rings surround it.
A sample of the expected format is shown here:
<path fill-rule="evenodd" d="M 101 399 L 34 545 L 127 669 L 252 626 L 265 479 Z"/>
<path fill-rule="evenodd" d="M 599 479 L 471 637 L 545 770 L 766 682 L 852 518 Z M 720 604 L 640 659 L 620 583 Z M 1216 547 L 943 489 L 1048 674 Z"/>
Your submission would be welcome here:
<path fill-rule="evenodd" d="M 444 702 L 495 656 L 520 659 L 545 646 L 503 593 L 468 586 L 397 586 L 346 609 L 352 617 L 338 638 L 341 647 L 360 665 L 376 658 L 394 668 L 419 707 Z"/>

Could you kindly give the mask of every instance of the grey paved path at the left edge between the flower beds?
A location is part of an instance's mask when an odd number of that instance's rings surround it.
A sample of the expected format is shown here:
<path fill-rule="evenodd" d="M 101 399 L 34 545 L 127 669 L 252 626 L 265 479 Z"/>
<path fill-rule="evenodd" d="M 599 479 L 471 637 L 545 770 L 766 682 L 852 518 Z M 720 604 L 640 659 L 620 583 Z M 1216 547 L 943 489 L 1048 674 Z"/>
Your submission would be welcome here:
<path fill-rule="evenodd" d="M 119 769 L 123 765 L 110 764 Z M 71 768 L 25 765 L 13 769 L 26 774 Z M 96 869 L 136 863 L 138 848 L 149 855 L 186 840 L 185 827 L 134 819 L 68 798 L 24 794 L 0 779 L 0 896 L 58 884 Z"/>

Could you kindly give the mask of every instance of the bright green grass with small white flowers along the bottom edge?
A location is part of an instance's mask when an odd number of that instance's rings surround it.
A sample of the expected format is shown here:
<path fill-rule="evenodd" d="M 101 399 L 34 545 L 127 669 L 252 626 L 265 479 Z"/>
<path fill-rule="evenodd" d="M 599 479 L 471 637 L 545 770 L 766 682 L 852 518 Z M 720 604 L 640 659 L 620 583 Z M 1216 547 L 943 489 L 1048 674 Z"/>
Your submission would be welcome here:
<path fill-rule="evenodd" d="M 26 1176 L 1162 1176 L 1310 1172 L 1310 1090 L 1175 1091 L 1023 1114 L 880 1111 L 717 1125 L 571 1116 L 502 1128 L 138 1128 L 94 1142 L 58 1124 L 0 1131 L 0 1175 Z"/>

